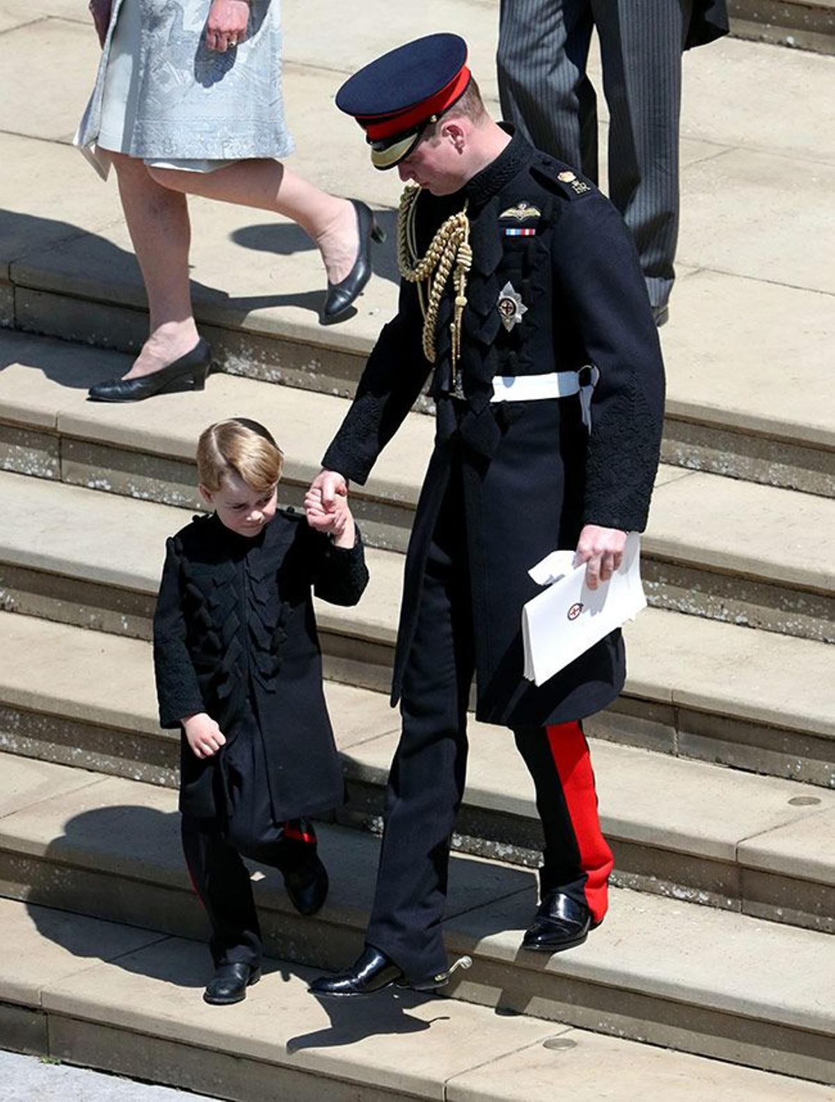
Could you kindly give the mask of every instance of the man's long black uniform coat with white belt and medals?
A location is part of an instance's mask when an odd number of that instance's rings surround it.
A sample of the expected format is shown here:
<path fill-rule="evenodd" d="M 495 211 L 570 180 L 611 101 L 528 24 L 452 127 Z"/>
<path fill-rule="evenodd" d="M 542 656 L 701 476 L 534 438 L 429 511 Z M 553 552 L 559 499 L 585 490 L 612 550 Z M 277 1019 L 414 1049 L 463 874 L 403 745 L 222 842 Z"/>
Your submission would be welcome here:
<path fill-rule="evenodd" d="M 392 701 L 400 694 L 426 553 L 455 464 L 464 495 L 476 715 L 510 727 L 564 723 L 599 711 L 618 694 L 623 646 L 615 631 L 541 688 L 527 681 L 521 608 L 541 592 L 528 570 L 557 548 L 575 548 L 585 523 L 644 528 L 661 440 L 661 350 L 632 240 L 592 183 L 513 136 L 455 195 L 421 194 L 421 252 L 465 202 L 473 248 L 459 365 L 466 401 L 449 392 L 449 288 L 431 388 L 435 450 L 406 555 Z M 507 233 L 520 228 L 534 233 Z M 498 310 L 508 282 L 527 306 L 509 332 Z M 415 288 L 403 282 L 398 315 L 380 334 L 325 467 L 366 480 L 431 370 L 422 325 Z M 490 403 L 494 376 L 589 364 L 600 372 L 590 435 L 577 396 Z"/>

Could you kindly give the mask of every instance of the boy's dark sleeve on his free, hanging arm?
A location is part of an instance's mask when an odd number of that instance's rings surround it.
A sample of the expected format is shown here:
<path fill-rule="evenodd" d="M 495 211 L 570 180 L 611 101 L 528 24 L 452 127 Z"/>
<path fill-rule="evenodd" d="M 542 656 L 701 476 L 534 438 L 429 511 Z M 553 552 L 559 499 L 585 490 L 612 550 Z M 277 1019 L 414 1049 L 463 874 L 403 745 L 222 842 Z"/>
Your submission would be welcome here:
<path fill-rule="evenodd" d="M 180 554 L 176 541 L 169 539 L 153 618 L 154 673 L 162 727 L 178 727 L 184 716 L 206 710 L 185 639 Z"/>

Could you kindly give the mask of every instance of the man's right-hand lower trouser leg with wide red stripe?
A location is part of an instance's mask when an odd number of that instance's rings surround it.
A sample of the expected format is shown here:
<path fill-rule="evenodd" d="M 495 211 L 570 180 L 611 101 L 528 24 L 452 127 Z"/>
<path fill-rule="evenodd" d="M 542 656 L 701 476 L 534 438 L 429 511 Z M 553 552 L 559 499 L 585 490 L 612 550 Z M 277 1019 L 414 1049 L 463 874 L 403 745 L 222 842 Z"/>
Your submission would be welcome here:
<path fill-rule="evenodd" d="M 559 723 L 513 732 L 533 778 L 545 836 L 542 895 L 559 889 L 584 903 L 601 922 L 608 906 L 611 850 L 600 831 L 597 793 L 583 727 Z"/>

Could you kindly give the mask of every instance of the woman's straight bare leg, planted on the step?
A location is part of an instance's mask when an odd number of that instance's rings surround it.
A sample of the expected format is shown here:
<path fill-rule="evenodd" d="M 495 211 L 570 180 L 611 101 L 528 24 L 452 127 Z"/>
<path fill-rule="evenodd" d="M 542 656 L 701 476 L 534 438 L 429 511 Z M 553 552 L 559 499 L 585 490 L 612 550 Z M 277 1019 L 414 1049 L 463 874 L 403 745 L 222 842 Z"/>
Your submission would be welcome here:
<path fill-rule="evenodd" d="M 148 294 L 148 341 L 127 379 L 149 375 L 197 344 L 188 288 L 191 225 L 185 195 L 151 179 L 142 161 L 112 153 L 119 195 Z"/>

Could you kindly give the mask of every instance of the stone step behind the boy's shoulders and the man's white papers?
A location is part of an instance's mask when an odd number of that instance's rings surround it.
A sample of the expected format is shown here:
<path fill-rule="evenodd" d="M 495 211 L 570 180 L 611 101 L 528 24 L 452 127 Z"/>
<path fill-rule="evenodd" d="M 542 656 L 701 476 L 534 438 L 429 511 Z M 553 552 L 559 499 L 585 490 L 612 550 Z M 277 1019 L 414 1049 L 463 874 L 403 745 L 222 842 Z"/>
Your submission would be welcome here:
<path fill-rule="evenodd" d="M 3 606 L 150 638 L 164 538 L 182 510 L 0 475 L 14 528 L 0 532 Z M 359 606 L 321 604 L 326 671 L 386 691 L 401 558 L 370 549 Z M 833 784 L 831 651 L 812 640 L 647 609 L 627 625 L 629 680 L 596 722 L 606 737 Z"/>

